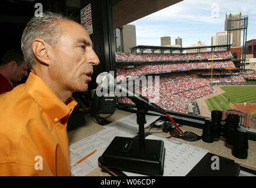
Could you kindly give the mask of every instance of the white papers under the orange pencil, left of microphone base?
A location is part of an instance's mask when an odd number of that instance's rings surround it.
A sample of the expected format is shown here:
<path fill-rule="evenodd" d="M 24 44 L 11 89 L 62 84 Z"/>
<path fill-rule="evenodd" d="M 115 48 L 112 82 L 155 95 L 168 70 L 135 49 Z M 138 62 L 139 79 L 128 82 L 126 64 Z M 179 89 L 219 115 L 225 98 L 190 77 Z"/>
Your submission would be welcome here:
<path fill-rule="evenodd" d="M 146 116 L 147 124 L 145 126 L 158 118 L 159 116 Z M 104 127 L 106 129 L 69 146 L 70 169 L 75 176 L 85 176 L 98 167 L 98 158 L 104 153 L 115 136 L 134 137 L 139 131 L 136 114 L 109 123 Z M 97 152 L 74 166 L 75 163 L 94 150 L 97 150 Z"/>

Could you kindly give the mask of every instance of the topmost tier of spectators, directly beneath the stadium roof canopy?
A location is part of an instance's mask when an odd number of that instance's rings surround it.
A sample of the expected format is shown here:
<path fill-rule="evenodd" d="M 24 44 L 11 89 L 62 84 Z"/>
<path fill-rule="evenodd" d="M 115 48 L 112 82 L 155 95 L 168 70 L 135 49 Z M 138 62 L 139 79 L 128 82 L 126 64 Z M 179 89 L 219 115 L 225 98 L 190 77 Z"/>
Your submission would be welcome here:
<path fill-rule="evenodd" d="M 218 52 L 198 52 L 198 53 L 115 53 L 116 61 L 182 61 L 195 59 L 230 59 L 232 54 L 230 51 Z"/>

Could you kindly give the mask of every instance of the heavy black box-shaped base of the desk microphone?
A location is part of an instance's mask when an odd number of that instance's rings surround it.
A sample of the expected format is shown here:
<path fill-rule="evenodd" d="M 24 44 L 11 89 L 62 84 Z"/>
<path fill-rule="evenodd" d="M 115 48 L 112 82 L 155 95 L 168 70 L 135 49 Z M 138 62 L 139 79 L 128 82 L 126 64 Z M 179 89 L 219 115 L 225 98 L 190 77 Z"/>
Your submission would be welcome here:
<path fill-rule="evenodd" d="M 145 139 L 145 147 L 140 148 L 139 139 L 116 136 L 102 154 L 101 164 L 127 172 L 162 175 L 164 156 L 161 140 Z"/>

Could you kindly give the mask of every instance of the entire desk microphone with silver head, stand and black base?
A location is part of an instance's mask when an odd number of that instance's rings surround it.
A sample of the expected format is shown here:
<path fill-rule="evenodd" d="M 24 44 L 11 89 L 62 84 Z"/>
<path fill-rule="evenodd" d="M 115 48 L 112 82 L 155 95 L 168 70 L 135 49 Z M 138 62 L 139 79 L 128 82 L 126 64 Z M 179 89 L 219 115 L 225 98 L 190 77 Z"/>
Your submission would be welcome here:
<path fill-rule="evenodd" d="M 162 140 L 145 139 L 144 125 L 146 123 L 146 113 L 148 110 L 165 113 L 165 110 L 159 106 L 149 103 L 148 98 L 134 93 L 133 89 L 127 89 L 125 82 L 115 83 L 114 76 L 108 72 L 102 72 L 97 76 L 96 82 L 98 88 L 96 93 L 104 95 L 106 89 L 109 95 L 127 96 L 137 106 L 137 124 L 139 126 L 138 138 L 116 136 L 107 147 L 101 157 L 101 165 L 122 169 L 128 172 L 138 172 L 144 174 L 163 174 L 165 147 Z M 130 85 L 131 86 L 131 85 Z M 132 84 L 132 86 L 134 86 Z M 133 87 L 132 87 L 133 88 Z M 121 93 L 120 93 L 121 91 Z M 131 165 L 132 164 L 132 165 Z"/>

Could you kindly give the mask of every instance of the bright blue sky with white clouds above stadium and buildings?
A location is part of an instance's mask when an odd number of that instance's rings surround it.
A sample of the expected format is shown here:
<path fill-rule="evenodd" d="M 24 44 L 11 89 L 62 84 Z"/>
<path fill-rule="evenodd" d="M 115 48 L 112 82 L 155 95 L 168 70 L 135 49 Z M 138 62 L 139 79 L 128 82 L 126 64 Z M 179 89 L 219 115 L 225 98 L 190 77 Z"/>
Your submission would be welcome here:
<path fill-rule="evenodd" d="M 184 0 L 129 24 L 136 26 L 137 45 L 160 46 L 162 36 L 171 36 L 175 45 L 179 36 L 182 47 L 198 41 L 209 46 L 211 37 L 225 30 L 226 14 L 235 11 L 248 15 L 247 41 L 256 39 L 255 0 Z"/>

